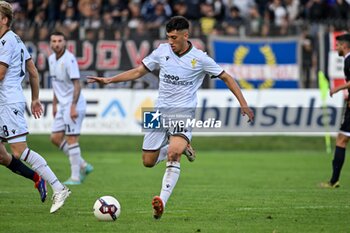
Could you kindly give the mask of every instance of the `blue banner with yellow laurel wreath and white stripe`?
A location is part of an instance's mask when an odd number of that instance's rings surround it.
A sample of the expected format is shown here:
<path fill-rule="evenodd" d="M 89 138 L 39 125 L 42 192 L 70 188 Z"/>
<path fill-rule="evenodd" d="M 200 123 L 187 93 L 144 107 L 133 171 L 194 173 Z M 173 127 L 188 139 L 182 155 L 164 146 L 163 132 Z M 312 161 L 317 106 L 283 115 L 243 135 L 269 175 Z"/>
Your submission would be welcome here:
<path fill-rule="evenodd" d="M 298 88 L 298 38 L 232 39 L 211 36 L 214 60 L 244 89 Z M 226 88 L 220 79 L 213 87 Z"/>

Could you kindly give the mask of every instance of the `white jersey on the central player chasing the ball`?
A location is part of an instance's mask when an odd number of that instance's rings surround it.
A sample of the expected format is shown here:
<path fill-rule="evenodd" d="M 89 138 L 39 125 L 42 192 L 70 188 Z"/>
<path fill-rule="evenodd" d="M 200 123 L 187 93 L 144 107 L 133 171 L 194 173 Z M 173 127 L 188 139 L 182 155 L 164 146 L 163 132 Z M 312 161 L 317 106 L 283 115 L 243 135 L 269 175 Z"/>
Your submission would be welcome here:
<path fill-rule="evenodd" d="M 212 58 L 192 44 L 181 56 L 168 43 L 161 44 L 142 63 L 150 71 L 160 68 L 156 107 L 196 107 L 197 90 L 205 75 L 218 76 L 223 72 Z"/>

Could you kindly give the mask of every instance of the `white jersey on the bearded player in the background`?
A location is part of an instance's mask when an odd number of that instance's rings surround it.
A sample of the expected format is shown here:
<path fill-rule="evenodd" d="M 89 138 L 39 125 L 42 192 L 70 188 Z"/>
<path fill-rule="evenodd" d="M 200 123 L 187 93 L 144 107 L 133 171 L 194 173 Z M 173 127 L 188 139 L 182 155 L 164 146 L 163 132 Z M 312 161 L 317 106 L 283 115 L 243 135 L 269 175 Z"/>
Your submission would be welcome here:
<path fill-rule="evenodd" d="M 56 54 L 49 57 L 49 70 L 52 87 L 61 107 L 70 107 L 73 101 L 74 85 L 72 79 L 80 79 L 80 72 L 75 56 L 65 50 L 64 54 L 56 60 Z M 86 101 L 80 93 L 77 108 L 85 108 Z"/>

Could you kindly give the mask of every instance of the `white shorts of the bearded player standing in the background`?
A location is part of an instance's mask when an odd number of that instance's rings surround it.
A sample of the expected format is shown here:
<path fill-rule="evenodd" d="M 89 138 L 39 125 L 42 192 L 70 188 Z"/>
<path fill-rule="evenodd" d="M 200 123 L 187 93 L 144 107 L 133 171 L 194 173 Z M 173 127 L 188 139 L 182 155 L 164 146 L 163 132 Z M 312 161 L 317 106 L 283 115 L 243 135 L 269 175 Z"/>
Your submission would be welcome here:
<path fill-rule="evenodd" d="M 70 117 L 70 106 L 57 111 L 51 132 L 65 132 L 65 135 L 79 135 L 85 117 L 85 109 L 78 109 L 78 117 L 73 121 Z"/>

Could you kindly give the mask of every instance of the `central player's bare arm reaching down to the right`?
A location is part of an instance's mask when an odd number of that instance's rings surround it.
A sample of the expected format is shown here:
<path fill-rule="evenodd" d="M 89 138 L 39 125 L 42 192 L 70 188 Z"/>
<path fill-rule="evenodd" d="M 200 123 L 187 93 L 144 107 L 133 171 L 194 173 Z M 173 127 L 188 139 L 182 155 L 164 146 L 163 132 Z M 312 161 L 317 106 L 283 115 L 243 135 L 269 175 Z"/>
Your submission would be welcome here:
<path fill-rule="evenodd" d="M 226 86 L 236 96 L 239 104 L 241 105 L 242 115 L 244 116 L 245 114 L 247 114 L 247 116 L 249 118 L 248 122 L 253 122 L 254 112 L 248 107 L 247 101 L 245 100 L 245 98 L 242 94 L 242 91 L 239 88 L 236 81 L 231 77 L 231 75 L 229 75 L 225 71 L 219 76 L 219 78 L 225 82 Z"/>

